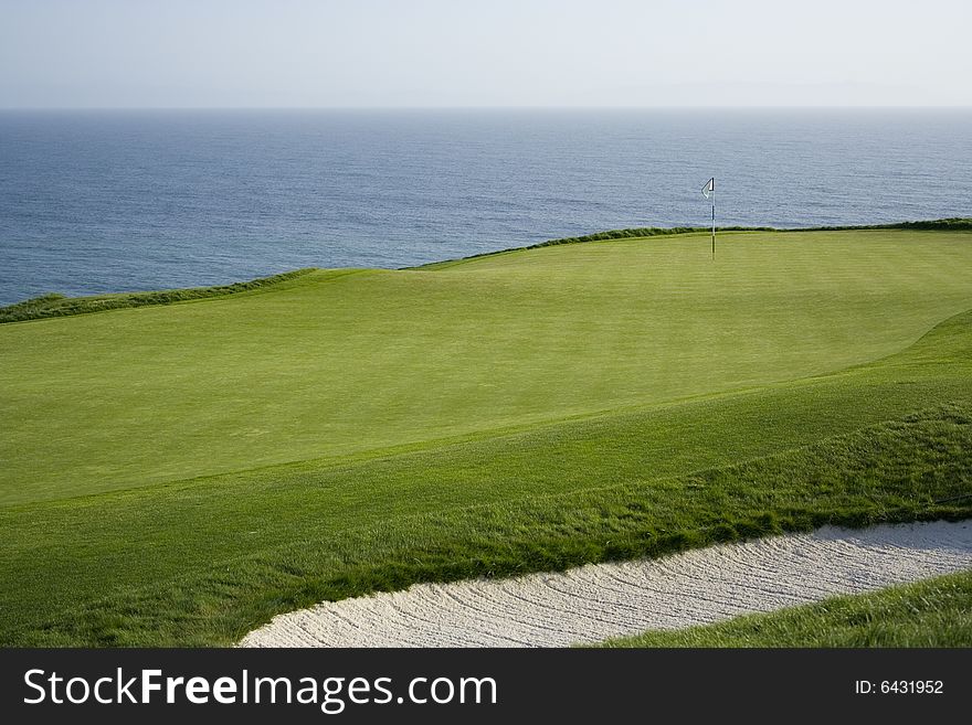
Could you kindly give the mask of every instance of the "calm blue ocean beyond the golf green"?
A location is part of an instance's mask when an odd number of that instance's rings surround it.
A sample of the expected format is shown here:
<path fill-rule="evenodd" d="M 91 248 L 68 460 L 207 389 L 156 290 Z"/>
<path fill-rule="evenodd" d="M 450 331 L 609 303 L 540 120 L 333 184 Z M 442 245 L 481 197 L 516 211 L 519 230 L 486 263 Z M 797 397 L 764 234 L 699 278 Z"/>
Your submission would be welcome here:
<path fill-rule="evenodd" d="M 0 113 L 0 305 L 631 226 L 972 216 L 972 110 Z"/>

